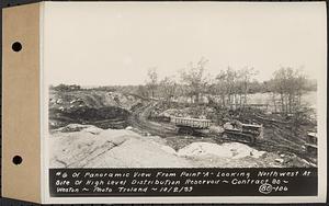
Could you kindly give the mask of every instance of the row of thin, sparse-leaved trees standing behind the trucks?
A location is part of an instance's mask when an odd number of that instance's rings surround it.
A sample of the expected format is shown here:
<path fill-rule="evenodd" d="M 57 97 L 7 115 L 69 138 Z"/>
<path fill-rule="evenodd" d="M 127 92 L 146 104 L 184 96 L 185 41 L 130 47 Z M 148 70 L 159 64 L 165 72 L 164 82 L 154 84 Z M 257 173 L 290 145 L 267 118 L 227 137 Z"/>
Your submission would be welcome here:
<path fill-rule="evenodd" d="M 157 68 L 147 72 L 145 85 L 136 91 L 139 95 L 161 99 L 170 102 L 178 96 L 190 98 L 198 104 L 206 96 L 209 103 L 216 102 L 222 107 L 243 107 L 248 105 L 248 95 L 271 93 L 275 111 L 290 114 L 303 110 L 302 96 L 308 91 L 316 91 L 315 80 L 308 79 L 302 70 L 291 67 L 279 68 L 268 81 L 256 80 L 259 71 L 252 67 L 218 70 L 214 77 L 206 72 L 207 59 L 190 62 L 178 71 L 179 80 L 173 77 L 159 79 Z"/>

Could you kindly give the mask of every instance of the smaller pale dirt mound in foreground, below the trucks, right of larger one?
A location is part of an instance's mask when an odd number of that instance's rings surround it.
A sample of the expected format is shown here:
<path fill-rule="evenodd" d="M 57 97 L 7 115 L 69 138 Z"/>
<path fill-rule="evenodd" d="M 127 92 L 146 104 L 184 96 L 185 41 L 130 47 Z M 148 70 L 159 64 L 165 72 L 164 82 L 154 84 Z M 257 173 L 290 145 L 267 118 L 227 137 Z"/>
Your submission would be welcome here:
<path fill-rule="evenodd" d="M 265 152 L 238 142 L 193 142 L 178 151 L 198 167 L 205 168 L 308 168 L 304 159 L 290 153 Z"/>

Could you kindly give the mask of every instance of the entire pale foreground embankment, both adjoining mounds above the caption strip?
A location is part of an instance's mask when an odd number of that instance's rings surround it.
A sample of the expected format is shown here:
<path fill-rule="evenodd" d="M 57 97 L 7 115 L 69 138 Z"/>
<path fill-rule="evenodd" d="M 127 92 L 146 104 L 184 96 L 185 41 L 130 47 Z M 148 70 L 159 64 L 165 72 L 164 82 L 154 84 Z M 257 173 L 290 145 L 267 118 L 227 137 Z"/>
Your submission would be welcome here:
<path fill-rule="evenodd" d="M 179 138 L 179 137 L 175 137 Z M 50 134 L 50 168 L 262 168 L 294 167 L 288 157 L 238 142 L 202 140 L 173 149 L 167 139 L 131 129 L 71 124 Z M 296 158 L 299 165 L 303 160 Z M 304 167 L 307 164 L 304 162 Z"/>

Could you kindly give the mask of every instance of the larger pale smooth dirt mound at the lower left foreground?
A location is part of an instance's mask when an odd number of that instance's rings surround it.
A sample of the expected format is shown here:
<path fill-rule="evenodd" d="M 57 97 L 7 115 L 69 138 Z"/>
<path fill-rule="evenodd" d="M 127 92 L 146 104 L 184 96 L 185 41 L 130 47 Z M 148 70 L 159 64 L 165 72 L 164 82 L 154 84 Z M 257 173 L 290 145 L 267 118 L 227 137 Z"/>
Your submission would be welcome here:
<path fill-rule="evenodd" d="M 77 125 L 70 126 L 77 128 Z M 50 135 L 50 168 L 178 168 L 192 164 L 173 154 L 160 137 L 143 137 L 127 129 L 101 129 L 84 125 L 79 131 Z"/>

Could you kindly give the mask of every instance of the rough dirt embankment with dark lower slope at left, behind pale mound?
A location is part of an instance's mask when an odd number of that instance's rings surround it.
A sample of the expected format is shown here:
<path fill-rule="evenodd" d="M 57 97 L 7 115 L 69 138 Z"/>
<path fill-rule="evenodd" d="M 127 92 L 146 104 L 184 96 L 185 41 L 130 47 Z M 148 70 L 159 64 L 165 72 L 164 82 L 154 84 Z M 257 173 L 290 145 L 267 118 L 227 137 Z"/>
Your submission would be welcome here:
<path fill-rule="evenodd" d="M 68 124 L 92 124 L 101 128 L 125 128 L 132 111 L 143 100 L 106 91 L 49 92 L 49 128 Z"/>

